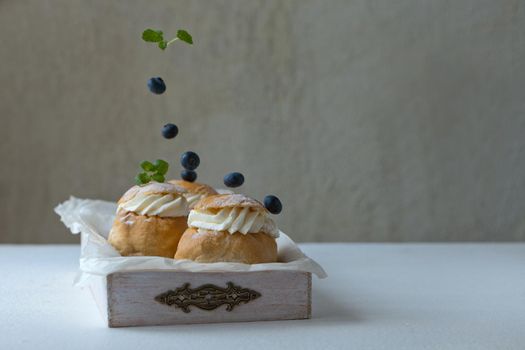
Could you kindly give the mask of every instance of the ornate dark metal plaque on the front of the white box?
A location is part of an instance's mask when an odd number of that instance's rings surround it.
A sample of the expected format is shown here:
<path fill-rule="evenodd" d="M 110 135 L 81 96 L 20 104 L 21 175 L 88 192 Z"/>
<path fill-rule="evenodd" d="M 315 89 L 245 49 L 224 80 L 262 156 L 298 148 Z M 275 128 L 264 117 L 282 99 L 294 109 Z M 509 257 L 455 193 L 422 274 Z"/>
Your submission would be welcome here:
<path fill-rule="evenodd" d="M 190 312 L 190 306 L 196 306 L 202 310 L 215 310 L 221 305 L 226 305 L 226 311 L 241 303 L 246 304 L 261 296 L 258 292 L 227 283 L 226 288 L 218 287 L 214 284 L 204 284 L 197 288 L 190 288 L 189 283 L 175 290 L 169 290 L 159 294 L 155 300 L 161 304 L 174 306 L 182 311 Z"/>

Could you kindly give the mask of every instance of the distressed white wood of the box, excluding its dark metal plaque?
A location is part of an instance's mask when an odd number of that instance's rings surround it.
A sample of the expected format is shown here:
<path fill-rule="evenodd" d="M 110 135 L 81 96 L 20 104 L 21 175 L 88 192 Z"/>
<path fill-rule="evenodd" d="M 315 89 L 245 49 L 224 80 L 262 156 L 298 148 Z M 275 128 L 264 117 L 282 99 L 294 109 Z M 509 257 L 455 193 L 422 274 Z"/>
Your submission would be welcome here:
<path fill-rule="evenodd" d="M 109 327 L 265 321 L 311 317 L 311 274 L 296 271 L 195 273 L 137 271 L 114 273 L 96 281 L 91 290 Z M 227 282 L 257 291 L 261 296 L 232 311 L 226 305 L 211 311 L 191 306 L 191 312 L 155 301 L 168 290 L 190 283 L 226 287 Z M 104 288 L 107 286 L 107 288 Z"/>

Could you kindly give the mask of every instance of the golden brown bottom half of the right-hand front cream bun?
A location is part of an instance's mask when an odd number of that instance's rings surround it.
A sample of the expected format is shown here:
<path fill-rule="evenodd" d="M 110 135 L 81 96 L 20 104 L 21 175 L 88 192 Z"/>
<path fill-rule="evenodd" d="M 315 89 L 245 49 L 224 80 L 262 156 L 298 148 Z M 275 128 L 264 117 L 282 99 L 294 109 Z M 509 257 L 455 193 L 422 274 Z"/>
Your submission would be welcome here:
<path fill-rule="evenodd" d="M 262 232 L 244 235 L 189 227 L 182 235 L 175 259 L 202 263 L 271 263 L 277 261 L 277 243 Z"/>

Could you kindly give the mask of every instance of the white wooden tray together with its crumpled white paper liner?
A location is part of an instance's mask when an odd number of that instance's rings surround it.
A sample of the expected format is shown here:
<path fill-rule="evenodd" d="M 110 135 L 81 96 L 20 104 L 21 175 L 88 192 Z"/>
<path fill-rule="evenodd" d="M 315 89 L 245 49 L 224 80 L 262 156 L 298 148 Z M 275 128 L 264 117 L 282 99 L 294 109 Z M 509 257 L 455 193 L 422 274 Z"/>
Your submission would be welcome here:
<path fill-rule="evenodd" d="M 326 273 L 285 233 L 277 239 L 278 263 L 122 257 L 107 242 L 116 209 L 73 197 L 55 208 L 81 233 L 75 284 L 90 286 L 109 327 L 310 318 L 312 273 Z"/>

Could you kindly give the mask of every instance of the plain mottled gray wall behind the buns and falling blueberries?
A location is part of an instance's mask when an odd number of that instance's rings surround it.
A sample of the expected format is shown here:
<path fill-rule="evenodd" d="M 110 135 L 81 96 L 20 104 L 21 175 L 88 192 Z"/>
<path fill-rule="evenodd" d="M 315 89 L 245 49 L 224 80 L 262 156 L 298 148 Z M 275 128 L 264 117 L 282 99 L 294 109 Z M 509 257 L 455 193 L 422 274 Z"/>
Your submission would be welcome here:
<path fill-rule="evenodd" d="M 56 204 L 118 198 L 143 159 L 177 177 L 189 149 L 200 180 L 279 195 L 298 241 L 523 240 L 524 8 L 0 0 L 0 242 L 74 242 Z"/>

